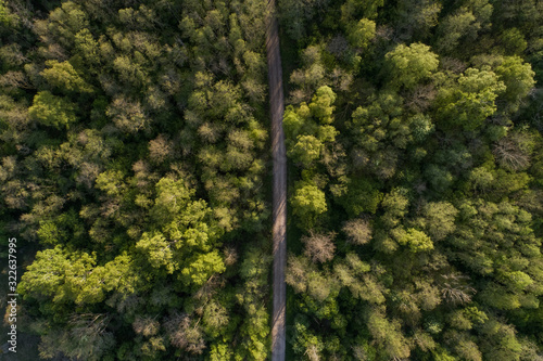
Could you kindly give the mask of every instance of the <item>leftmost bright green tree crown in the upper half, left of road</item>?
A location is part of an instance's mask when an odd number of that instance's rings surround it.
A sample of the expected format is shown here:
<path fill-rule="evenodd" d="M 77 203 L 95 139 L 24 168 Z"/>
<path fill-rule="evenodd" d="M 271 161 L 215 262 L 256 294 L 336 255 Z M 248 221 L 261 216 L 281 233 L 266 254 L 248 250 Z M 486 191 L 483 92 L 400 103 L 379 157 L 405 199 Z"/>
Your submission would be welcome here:
<path fill-rule="evenodd" d="M 45 126 L 63 129 L 70 128 L 72 124 L 77 121 L 75 109 L 74 104 L 70 101 L 46 90 L 34 96 L 28 115 Z"/>

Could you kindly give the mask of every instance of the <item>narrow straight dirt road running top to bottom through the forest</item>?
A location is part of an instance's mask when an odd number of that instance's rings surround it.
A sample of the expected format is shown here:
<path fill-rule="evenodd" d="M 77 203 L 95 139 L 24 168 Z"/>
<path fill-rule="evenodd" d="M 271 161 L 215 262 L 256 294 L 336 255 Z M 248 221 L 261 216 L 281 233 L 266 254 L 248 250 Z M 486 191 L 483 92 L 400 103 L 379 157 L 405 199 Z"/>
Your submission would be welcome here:
<path fill-rule="evenodd" d="M 268 0 L 266 18 L 266 51 L 268 62 L 269 112 L 272 115 L 272 155 L 274 160 L 274 310 L 272 315 L 272 361 L 285 360 L 285 267 L 287 263 L 287 154 L 282 114 L 281 55 L 279 53 L 279 30 L 275 16 L 276 1 Z"/>

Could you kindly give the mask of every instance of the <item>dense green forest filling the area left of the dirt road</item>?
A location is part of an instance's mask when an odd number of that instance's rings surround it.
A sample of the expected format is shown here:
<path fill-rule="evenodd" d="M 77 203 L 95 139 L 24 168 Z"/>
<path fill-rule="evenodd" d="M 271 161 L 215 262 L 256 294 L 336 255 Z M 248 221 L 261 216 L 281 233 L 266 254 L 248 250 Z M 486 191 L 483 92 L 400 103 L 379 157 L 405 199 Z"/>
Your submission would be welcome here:
<path fill-rule="evenodd" d="M 0 223 L 54 247 L 21 260 L 42 357 L 265 360 L 265 3 L 4 3 Z"/>

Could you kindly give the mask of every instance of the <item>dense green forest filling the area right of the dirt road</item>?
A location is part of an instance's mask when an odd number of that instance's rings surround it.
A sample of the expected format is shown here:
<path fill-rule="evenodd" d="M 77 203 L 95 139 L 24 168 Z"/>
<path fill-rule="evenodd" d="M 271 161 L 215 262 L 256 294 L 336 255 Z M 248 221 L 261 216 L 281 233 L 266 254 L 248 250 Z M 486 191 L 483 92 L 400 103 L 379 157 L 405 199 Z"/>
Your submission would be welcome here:
<path fill-rule="evenodd" d="M 340 15 L 321 2 L 318 26 L 298 23 L 308 36 L 295 39 L 302 65 L 290 75 L 287 147 L 303 136 L 323 146 L 291 171 L 291 206 L 300 218 L 295 196 L 313 186 L 327 210 L 294 227 L 337 234 L 326 262 L 312 262 L 305 235 L 304 247 L 292 246 L 292 351 L 307 360 L 538 360 L 541 144 L 528 133 L 542 129 L 532 70 L 541 73 L 543 8 L 381 5 L 344 1 Z M 336 93 L 333 137 L 323 136 L 310 102 L 324 85 Z"/>

